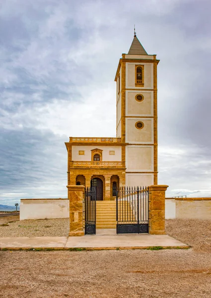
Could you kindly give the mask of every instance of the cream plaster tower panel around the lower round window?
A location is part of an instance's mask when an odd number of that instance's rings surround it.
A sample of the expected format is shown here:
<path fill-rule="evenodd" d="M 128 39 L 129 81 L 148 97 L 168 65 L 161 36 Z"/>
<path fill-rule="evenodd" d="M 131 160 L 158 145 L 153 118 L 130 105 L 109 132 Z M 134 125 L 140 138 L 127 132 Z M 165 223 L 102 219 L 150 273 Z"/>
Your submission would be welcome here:
<path fill-rule="evenodd" d="M 137 129 L 136 122 L 143 122 L 143 128 Z M 126 143 L 153 144 L 153 119 L 126 118 Z"/>

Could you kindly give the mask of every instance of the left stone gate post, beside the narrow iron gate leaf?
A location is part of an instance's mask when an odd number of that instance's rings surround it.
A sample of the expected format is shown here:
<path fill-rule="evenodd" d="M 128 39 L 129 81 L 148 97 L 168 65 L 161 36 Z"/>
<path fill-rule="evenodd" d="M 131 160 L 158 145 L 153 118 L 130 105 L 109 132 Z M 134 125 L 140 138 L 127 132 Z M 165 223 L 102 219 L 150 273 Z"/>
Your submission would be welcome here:
<path fill-rule="evenodd" d="M 70 232 L 69 236 L 83 236 L 83 185 L 68 185 L 70 202 Z"/>

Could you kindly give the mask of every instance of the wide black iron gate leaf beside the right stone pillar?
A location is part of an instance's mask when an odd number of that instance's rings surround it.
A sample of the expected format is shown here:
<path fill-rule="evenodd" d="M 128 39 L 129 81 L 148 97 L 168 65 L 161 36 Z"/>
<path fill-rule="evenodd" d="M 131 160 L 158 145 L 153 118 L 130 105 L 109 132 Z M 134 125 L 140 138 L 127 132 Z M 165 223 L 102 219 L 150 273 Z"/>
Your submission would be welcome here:
<path fill-rule="evenodd" d="M 117 234 L 148 233 L 148 187 L 122 187 L 117 191 Z"/>

